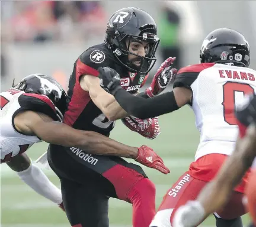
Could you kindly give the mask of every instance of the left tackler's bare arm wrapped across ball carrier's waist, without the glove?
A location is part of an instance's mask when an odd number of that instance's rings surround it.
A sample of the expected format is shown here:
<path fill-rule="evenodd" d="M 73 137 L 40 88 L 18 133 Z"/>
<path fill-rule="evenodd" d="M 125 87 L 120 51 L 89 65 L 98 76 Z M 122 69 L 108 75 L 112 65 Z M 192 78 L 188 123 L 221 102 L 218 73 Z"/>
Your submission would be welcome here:
<path fill-rule="evenodd" d="M 53 121 L 44 113 L 25 111 L 14 119 L 15 127 L 25 134 L 35 134 L 41 140 L 64 147 L 78 147 L 91 154 L 115 155 L 135 159 L 138 148 L 130 147 L 92 131 L 82 131 Z"/>

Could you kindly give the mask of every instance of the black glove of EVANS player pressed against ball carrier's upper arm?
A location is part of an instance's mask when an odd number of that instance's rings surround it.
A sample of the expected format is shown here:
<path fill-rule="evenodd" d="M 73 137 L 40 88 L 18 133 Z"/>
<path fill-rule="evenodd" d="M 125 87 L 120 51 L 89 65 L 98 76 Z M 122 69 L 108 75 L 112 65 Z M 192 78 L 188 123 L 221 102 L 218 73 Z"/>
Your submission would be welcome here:
<path fill-rule="evenodd" d="M 121 89 L 120 86 L 120 75 L 116 70 L 110 67 L 100 67 L 98 69 L 100 75 L 100 86 L 107 90 L 108 93 L 114 95 L 117 90 Z"/>

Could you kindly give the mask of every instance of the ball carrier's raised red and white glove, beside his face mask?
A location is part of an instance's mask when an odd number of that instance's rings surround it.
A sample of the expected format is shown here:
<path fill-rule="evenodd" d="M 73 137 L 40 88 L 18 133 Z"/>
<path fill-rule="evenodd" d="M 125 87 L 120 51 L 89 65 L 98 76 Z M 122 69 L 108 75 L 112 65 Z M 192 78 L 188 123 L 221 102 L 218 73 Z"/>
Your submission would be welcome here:
<path fill-rule="evenodd" d="M 171 65 L 176 57 L 168 57 L 156 72 L 151 85 L 145 90 L 146 95 L 152 98 L 155 95 L 159 95 L 165 87 L 168 86 L 171 79 L 174 78 L 177 73 L 177 69 L 171 69 Z"/>

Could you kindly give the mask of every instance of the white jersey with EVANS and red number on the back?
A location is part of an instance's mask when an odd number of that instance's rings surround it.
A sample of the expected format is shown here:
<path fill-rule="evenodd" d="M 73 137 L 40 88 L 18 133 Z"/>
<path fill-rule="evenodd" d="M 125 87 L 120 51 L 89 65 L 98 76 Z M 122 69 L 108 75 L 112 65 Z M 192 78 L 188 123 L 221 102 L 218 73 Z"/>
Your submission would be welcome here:
<path fill-rule="evenodd" d="M 174 87 L 190 87 L 191 108 L 200 131 L 195 159 L 212 153 L 231 155 L 238 135 L 235 108 L 245 93 L 256 90 L 256 72 L 246 67 L 203 63 L 187 66 L 177 74 Z"/>

